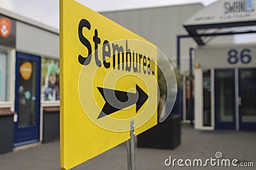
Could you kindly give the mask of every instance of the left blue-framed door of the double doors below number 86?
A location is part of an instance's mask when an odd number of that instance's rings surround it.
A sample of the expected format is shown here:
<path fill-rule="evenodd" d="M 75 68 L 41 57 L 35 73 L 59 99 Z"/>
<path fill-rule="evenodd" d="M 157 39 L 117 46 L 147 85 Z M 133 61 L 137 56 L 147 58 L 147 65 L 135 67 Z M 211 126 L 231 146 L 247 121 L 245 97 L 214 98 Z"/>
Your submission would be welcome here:
<path fill-rule="evenodd" d="M 214 75 L 215 128 L 236 129 L 234 69 L 216 69 Z"/>

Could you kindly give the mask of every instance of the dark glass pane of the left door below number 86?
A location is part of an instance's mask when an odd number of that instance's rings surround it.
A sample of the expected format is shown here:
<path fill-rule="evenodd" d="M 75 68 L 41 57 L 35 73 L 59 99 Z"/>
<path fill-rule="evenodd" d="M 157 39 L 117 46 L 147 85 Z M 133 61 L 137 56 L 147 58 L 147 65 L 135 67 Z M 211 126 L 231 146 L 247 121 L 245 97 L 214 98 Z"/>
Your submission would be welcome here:
<path fill-rule="evenodd" d="M 216 71 L 216 111 L 219 122 L 232 122 L 234 106 L 234 72 Z"/>

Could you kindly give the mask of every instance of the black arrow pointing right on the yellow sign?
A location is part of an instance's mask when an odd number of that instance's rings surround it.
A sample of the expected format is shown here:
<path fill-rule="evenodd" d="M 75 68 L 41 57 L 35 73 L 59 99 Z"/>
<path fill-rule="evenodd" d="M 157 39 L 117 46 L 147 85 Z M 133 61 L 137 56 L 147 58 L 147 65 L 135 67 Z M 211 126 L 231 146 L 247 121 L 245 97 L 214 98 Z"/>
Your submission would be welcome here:
<path fill-rule="evenodd" d="M 106 102 L 100 111 L 98 118 L 106 117 L 111 113 L 115 113 L 116 111 L 127 108 L 133 104 L 136 104 L 137 113 L 148 99 L 148 95 L 138 85 L 136 85 L 136 93 L 123 92 L 120 90 L 106 89 L 102 87 L 97 87 L 97 89 Z"/>

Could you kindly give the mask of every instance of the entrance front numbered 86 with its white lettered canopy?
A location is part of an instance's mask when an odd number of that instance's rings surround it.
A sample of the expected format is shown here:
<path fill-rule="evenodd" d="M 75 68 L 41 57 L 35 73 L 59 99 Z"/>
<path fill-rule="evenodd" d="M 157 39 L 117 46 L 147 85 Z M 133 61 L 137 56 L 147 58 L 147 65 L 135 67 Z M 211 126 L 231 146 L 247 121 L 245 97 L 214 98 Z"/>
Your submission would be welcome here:
<path fill-rule="evenodd" d="M 195 49 L 195 128 L 256 130 L 256 1 L 220 0 L 184 24 Z M 212 38 L 234 41 L 211 45 Z"/>

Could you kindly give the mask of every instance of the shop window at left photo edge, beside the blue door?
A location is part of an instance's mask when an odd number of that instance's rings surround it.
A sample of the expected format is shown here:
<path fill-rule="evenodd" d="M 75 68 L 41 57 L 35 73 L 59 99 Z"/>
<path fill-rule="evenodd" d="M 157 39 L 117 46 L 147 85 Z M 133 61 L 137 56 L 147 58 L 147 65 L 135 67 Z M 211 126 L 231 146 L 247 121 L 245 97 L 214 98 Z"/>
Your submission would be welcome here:
<path fill-rule="evenodd" d="M 0 49 L 0 102 L 10 101 L 10 52 Z"/>

